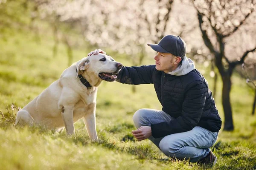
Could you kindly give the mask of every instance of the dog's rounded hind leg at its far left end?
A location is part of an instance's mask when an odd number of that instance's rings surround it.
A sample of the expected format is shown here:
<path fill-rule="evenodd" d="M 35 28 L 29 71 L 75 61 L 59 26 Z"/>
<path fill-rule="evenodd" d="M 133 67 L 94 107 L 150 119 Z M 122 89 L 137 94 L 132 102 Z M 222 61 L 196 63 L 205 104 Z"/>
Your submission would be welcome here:
<path fill-rule="evenodd" d="M 15 125 L 33 125 L 34 119 L 28 111 L 21 109 L 16 116 Z"/>

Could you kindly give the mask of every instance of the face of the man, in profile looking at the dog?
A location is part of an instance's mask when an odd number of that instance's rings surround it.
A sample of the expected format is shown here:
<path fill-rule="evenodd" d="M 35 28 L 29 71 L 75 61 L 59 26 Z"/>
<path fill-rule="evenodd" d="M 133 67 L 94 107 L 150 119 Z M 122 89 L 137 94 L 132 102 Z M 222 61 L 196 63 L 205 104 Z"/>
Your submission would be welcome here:
<path fill-rule="evenodd" d="M 176 58 L 170 53 L 157 52 L 157 55 L 154 57 L 156 60 L 156 69 L 165 73 L 175 70 L 177 68 L 175 68 Z"/>

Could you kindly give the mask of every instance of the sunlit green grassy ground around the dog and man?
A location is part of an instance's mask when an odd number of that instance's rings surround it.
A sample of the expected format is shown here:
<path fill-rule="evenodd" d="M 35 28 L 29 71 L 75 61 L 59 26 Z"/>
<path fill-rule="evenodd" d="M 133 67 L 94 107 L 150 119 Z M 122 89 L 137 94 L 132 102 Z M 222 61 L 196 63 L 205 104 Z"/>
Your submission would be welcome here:
<path fill-rule="evenodd" d="M 161 109 L 153 85 L 136 86 L 118 82 L 102 82 L 97 96 L 96 126 L 99 143 L 91 142 L 82 121 L 75 124 L 76 137 L 43 127 L 14 127 L 17 109 L 40 94 L 67 68 L 66 49 L 59 47 L 52 57 L 53 40 L 42 36 L 35 41 L 29 31 L 4 30 L 0 39 L 0 167 L 1 169 L 195 169 L 209 167 L 172 161 L 150 141 L 136 141 L 132 116 L 140 108 Z M 73 62 L 93 49 L 74 51 Z M 130 66 L 122 55 L 112 55 L 117 61 Z M 148 58 L 145 64 L 154 63 Z M 196 65 L 199 70 L 204 68 Z M 212 87 L 208 72 L 204 74 Z M 250 115 L 253 91 L 245 81 L 233 77 L 231 102 L 235 130 L 220 131 L 212 150 L 218 163 L 212 169 L 256 169 L 256 116 Z M 221 82 L 215 97 L 223 118 Z"/>

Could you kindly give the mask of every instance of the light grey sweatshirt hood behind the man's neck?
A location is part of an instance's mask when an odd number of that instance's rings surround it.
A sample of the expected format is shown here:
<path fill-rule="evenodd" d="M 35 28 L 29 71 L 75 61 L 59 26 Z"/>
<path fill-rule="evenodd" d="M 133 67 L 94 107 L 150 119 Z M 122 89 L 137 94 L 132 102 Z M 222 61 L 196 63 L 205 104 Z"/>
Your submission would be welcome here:
<path fill-rule="evenodd" d="M 187 58 L 185 56 L 181 64 L 174 71 L 171 71 L 168 74 L 171 74 L 174 76 L 183 76 L 185 74 L 188 74 L 190 71 L 194 69 L 195 69 L 195 64 L 192 61 L 192 59 Z"/>

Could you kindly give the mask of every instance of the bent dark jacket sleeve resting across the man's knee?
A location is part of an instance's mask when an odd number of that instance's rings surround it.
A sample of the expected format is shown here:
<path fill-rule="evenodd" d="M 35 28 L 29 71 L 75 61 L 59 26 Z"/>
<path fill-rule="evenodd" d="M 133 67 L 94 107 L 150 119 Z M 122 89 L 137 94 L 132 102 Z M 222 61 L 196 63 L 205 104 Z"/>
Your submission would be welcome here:
<path fill-rule="evenodd" d="M 197 126 L 204 110 L 207 91 L 204 82 L 196 80 L 190 83 L 186 88 L 181 116 L 169 122 L 151 124 L 152 136 L 160 138 L 173 133 L 186 132 Z"/>

